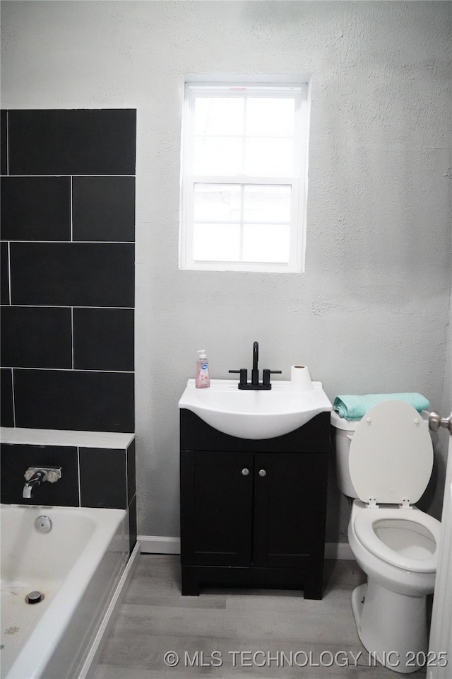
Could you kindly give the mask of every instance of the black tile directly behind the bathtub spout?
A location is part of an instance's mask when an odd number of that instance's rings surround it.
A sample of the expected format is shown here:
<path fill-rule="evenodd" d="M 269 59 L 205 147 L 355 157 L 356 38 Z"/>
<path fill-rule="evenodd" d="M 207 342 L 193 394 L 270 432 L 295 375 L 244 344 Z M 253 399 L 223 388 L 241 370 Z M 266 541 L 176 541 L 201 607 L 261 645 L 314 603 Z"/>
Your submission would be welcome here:
<path fill-rule="evenodd" d="M 29 467 L 61 467 L 61 479 L 35 486 L 23 498 L 24 474 Z M 42 504 L 78 507 L 77 448 L 1 444 L 1 501 L 5 504 Z"/>

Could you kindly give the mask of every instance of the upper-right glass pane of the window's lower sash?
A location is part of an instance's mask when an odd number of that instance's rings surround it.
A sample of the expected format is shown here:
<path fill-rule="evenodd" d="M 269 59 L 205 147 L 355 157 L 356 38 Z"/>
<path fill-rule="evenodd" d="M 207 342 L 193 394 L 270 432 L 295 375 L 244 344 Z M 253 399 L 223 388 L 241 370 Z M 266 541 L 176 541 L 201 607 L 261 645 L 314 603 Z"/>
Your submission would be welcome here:
<path fill-rule="evenodd" d="M 244 221 L 290 222 L 291 188 L 251 184 L 244 188 Z"/>

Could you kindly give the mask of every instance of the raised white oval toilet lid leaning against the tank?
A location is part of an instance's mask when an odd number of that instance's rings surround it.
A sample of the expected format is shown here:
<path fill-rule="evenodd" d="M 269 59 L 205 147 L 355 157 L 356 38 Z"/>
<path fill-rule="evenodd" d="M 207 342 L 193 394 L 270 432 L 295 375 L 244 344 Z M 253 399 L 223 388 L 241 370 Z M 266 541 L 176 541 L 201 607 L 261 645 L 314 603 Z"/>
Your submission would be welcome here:
<path fill-rule="evenodd" d="M 349 468 L 363 502 L 417 502 L 433 468 L 432 439 L 420 414 L 403 401 L 374 405 L 353 434 Z"/>

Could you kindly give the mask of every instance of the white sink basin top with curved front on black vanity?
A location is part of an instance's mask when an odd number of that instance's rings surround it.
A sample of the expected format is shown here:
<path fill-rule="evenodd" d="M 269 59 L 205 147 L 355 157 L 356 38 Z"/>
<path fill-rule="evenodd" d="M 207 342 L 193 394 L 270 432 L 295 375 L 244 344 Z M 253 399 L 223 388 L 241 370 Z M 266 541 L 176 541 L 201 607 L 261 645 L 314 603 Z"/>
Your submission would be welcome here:
<path fill-rule="evenodd" d="M 321 382 L 310 391 L 297 391 L 290 382 L 272 382 L 268 391 L 244 391 L 237 380 L 210 380 L 210 388 L 196 389 L 189 380 L 179 408 L 186 408 L 223 434 L 240 439 L 273 439 L 283 436 L 332 405 Z"/>

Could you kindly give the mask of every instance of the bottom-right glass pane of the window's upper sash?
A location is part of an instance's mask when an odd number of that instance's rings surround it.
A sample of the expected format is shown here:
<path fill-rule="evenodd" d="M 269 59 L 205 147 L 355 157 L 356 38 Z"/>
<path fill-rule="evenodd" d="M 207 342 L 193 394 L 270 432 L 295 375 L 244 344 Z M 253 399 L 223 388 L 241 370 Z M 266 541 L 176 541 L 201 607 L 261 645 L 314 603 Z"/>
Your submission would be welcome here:
<path fill-rule="evenodd" d="M 246 139 L 245 174 L 287 177 L 293 174 L 292 139 Z"/>

